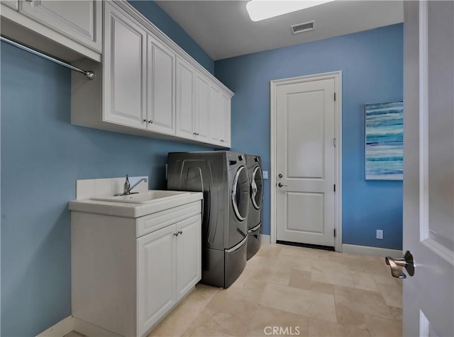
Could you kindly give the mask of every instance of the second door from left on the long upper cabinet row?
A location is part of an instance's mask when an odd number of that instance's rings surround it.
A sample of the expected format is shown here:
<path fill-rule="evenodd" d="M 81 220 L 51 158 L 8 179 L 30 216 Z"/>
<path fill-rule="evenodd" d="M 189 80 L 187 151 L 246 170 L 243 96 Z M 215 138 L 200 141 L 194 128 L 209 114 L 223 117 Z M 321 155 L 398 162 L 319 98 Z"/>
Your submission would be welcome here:
<path fill-rule="evenodd" d="M 175 135 L 175 52 L 148 34 L 148 130 Z"/>

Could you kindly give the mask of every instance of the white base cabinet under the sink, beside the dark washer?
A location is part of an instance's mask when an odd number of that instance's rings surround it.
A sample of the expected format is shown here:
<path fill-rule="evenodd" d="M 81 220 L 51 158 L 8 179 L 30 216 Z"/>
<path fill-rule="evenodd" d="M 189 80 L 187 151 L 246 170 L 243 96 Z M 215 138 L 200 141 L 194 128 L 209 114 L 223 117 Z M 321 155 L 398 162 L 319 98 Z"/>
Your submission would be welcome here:
<path fill-rule="evenodd" d="M 146 336 L 194 288 L 202 196 L 192 194 L 189 203 L 138 218 L 71 213 L 75 318 L 120 336 Z"/>

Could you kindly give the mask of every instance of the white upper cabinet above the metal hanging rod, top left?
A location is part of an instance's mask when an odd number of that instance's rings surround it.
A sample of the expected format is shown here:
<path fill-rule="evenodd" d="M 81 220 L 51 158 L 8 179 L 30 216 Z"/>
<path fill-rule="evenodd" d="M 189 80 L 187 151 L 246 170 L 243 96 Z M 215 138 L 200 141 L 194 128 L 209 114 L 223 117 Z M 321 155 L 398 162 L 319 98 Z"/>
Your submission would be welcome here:
<path fill-rule="evenodd" d="M 102 2 L 96 0 L 1 1 L 1 33 L 72 62 L 101 61 Z"/>

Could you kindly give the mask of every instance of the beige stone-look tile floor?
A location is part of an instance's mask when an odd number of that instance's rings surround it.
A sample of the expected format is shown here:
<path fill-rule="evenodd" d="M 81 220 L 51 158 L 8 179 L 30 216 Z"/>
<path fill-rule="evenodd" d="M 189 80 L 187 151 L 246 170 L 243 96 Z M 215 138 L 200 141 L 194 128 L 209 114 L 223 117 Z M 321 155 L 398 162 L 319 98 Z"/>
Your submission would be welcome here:
<path fill-rule="evenodd" d="M 153 336 L 402 336 L 402 282 L 383 258 L 263 244 L 231 287 L 198 285 Z"/>

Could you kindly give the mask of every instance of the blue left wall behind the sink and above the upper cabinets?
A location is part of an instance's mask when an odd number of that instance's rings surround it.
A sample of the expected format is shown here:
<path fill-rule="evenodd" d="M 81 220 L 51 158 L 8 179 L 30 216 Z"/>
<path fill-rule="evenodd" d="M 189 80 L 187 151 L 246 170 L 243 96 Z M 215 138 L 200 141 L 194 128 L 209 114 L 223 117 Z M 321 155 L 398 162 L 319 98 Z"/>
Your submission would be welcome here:
<path fill-rule="evenodd" d="M 213 72 L 184 30 L 154 3 L 137 2 Z M 4 42 L 0 85 L 1 336 L 36 336 L 71 314 L 67 202 L 76 180 L 129 173 L 165 188 L 167 152 L 209 148 L 71 125 L 70 70 Z"/>

